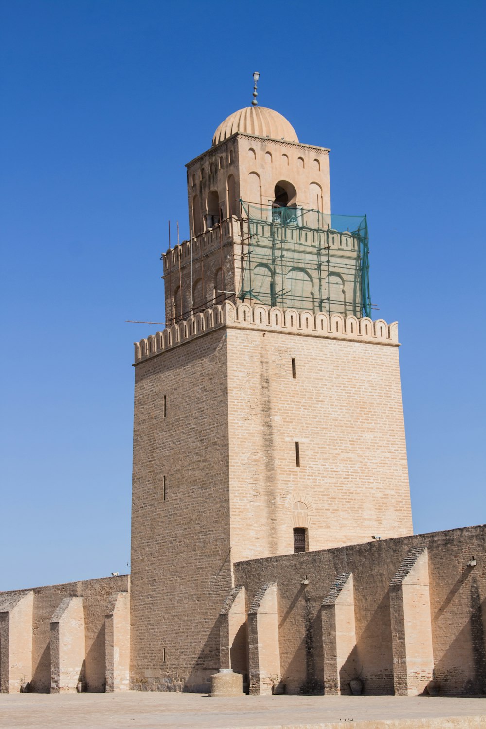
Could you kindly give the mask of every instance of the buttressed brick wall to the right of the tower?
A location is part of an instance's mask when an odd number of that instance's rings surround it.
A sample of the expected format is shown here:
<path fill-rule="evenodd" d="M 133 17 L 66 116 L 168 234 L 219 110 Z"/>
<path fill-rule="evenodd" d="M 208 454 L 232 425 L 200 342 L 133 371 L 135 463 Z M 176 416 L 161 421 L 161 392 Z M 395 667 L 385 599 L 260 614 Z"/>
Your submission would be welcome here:
<path fill-rule="evenodd" d="M 235 582 L 276 585 L 286 693 L 486 695 L 486 526 L 243 561 Z"/>

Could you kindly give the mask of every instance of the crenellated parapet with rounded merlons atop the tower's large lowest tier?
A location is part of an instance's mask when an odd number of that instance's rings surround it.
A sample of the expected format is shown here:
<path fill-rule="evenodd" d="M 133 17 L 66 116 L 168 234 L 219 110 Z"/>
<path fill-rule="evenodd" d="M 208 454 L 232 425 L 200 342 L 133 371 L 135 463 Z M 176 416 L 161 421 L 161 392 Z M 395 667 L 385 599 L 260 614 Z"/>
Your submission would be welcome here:
<path fill-rule="evenodd" d="M 340 314 L 328 316 L 324 312 L 314 314 L 312 311 L 270 308 L 261 304 L 235 305 L 226 301 L 172 324 L 163 332 L 134 342 L 135 364 L 220 327 L 399 346 L 396 321 L 387 324 L 383 319 L 372 321 L 366 316 L 361 319 Z"/>

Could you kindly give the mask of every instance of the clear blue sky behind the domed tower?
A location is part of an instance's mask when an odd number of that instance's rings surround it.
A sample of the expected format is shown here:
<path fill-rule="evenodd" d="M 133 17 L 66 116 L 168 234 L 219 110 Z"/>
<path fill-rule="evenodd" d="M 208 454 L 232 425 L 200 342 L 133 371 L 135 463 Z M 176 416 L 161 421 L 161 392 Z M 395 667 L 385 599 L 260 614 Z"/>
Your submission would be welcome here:
<path fill-rule="evenodd" d="M 184 163 L 254 70 L 332 148 L 333 211 L 368 215 L 415 531 L 486 521 L 485 25 L 484 0 L 1 2 L 0 589 L 127 570 L 132 342 L 154 329 L 125 319 L 163 320 Z"/>

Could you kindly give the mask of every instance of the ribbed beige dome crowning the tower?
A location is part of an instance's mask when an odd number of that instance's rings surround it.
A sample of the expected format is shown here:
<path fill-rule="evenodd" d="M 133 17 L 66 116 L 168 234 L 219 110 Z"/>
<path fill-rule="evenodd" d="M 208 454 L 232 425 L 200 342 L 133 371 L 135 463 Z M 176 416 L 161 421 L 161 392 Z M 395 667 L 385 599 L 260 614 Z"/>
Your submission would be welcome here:
<path fill-rule="evenodd" d="M 299 141 L 291 123 L 282 114 L 274 112 L 273 109 L 265 109 L 264 106 L 246 106 L 245 109 L 230 114 L 214 132 L 213 147 L 235 132 Z"/>

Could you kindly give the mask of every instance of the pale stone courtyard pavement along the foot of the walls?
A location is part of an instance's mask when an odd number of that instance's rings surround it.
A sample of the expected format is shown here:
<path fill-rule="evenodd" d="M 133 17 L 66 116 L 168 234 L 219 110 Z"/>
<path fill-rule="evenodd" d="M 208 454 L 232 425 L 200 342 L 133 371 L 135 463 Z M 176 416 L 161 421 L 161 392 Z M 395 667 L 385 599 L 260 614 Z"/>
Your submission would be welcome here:
<path fill-rule="evenodd" d="M 486 698 L 0 694 L 1 729 L 486 729 Z"/>

